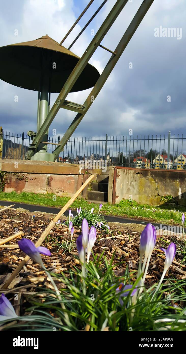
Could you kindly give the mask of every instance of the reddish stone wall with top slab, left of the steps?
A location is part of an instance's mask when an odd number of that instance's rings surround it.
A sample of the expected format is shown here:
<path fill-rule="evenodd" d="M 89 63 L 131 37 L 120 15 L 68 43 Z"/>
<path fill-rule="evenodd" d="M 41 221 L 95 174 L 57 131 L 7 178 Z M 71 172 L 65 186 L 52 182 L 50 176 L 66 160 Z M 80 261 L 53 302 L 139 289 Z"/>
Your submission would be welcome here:
<path fill-rule="evenodd" d="M 5 181 L 4 192 L 53 193 L 71 197 L 89 174 L 100 174 L 101 170 L 88 170 L 85 174 L 86 171 L 75 164 L 10 159 L 0 160 L 1 172 L 5 173 L 4 177 L 0 177 L 1 186 Z M 87 188 L 83 191 L 83 198 L 86 198 Z"/>

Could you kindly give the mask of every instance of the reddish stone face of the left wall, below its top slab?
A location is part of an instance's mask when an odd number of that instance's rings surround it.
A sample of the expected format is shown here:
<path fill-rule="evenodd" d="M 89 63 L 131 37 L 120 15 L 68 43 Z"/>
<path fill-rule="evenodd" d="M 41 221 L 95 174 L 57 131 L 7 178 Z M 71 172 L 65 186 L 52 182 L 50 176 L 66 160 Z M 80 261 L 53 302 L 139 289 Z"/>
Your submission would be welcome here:
<path fill-rule="evenodd" d="M 7 173 L 4 192 L 53 193 L 71 197 L 83 184 L 83 175 Z M 81 198 L 81 195 L 79 196 Z"/>

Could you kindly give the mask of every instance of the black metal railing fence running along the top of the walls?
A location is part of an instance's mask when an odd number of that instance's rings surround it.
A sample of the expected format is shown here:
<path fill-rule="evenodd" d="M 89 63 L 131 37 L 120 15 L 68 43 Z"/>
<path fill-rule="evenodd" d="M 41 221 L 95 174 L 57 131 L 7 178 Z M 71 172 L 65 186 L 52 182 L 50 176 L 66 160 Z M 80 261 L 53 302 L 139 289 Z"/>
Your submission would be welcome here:
<path fill-rule="evenodd" d="M 2 159 L 24 159 L 31 143 L 28 135 L 2 132 Z M 59 144 L 60 136 L 48 137 L 48 152 Z M 56 145 L 56 146 L 55 146 Z M 136 168 L 186 169 L 186 138 L 168 136 L 120 136 L 70 138 L 59 162 L 106 161 L 107 165 Z"/>

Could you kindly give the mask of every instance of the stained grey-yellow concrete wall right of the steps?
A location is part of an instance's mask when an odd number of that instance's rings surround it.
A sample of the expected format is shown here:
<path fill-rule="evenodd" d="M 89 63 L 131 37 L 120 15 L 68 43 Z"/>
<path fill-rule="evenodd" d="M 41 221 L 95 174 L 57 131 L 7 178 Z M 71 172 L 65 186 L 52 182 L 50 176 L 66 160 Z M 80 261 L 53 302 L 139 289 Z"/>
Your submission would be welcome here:
<path fill-rule="evenodd" d="M 114 203 L 124 199 L 133 199 L 141 204 L 164 204 L 166 196 L 171 195 L 173 202 L 186 206 L 186 171 L 116 168 L 109 171 L 108 201 Z M 113 190 L 114 185 L 114 190 Z"/>

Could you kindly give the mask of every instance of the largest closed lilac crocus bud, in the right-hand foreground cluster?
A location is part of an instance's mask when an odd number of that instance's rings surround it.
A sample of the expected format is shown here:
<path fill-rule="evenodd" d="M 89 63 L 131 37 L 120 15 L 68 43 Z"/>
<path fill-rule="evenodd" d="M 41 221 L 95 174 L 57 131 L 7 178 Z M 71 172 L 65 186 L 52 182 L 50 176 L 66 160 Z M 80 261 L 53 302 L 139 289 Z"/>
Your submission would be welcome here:
<path fill-rule="evenodd" d="M 147 224 L 144 230 L 141 233 L 140 239 L 140 253 L 141 255 L 149 256 L 152 254 L 152 251 L 156 243 L 156 231 L 151 224 Z"/>

